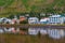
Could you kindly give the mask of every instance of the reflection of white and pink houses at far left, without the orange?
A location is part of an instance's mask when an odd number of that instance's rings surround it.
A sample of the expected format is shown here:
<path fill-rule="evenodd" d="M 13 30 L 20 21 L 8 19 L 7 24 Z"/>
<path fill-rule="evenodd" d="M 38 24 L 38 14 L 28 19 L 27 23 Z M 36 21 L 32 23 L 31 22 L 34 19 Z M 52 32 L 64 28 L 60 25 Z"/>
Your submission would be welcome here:
<path fill-rule="evenodd" d="M 18 33 L 18 32 L 20 32 L 20 28 L 14 28 L 14 27 L 10 27 L 10 28 L 0 27 L 0 33 Z"/>

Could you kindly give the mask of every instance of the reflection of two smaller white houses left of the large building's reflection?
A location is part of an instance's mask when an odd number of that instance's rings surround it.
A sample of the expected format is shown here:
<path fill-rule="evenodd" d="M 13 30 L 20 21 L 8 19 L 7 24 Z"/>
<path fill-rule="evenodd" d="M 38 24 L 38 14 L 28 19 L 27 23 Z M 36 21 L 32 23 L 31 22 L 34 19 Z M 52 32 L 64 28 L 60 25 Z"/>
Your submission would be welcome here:
<path fill-rule="evenodd" d="M 39 32 L 41 34 L 48 34 L 47 29 L 43 29 L 43 28 L 29 28 L 28 29 L 28 34 L 38 34 Z"/>

